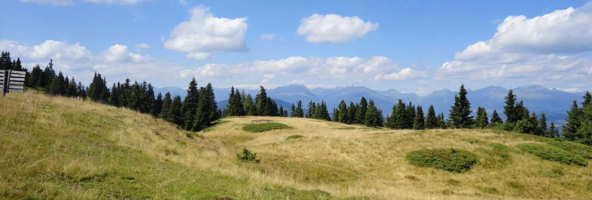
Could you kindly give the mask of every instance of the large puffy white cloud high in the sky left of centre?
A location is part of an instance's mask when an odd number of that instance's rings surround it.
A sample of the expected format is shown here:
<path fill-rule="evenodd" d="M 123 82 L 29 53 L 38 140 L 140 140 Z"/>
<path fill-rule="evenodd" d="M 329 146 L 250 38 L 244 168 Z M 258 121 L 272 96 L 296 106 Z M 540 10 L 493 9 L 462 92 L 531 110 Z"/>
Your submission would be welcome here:
<path fill-rule="evenodd" d="M 189 21 L 181 22 L 170 31 L 165 48 L 188 53 L 186 57 L 204 60 L 214 52 L 249 50 L 244 42 L 247 18 L 217 18 L 210 8 L 195 7 Z"/>

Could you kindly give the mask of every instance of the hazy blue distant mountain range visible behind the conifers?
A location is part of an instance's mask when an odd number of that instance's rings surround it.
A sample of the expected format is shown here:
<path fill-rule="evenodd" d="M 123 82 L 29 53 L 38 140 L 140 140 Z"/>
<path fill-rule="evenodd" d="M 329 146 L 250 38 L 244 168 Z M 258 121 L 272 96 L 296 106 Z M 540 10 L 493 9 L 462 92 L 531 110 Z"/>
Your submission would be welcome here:
<path fill-rule="evenodd" d="M 171 94 L 181 95 L 182 98 L 186 95 L 185 89 L 177 87 L 155 88 L 156 92 L 170 92 Z M 244 92 L 250 93 L 253 98 L 259 92 L 258 89 L 244 89 Z M 230 88 L 214 88 L 214 94 L 218 101 L 218 107 L 222 108 L 227 104 L 229 98 Z M 347 86 L 336 88 L 314 88 L 310 89 L 304 85 L 287 85 L 274 89 L 268 89 L 269 97 L 276 99 L 279 105 L 289 108 L 291 104 L 299 100 L 303 101 L 303 106 L 307 106 L 307 102 L 325 101 L 329 111 L 333 111 L 333 107 L 337 107 L 342 99 L 346 102 L 359 102 L 362 96 L 366 99 L 373 99 L 379 109 L 382 109 L 383 114 L 390 114 L 392 105 L 398 102 L 401 98 L 406 104 L 411 101 L 413 105 L 422 105 L 424 112 L 430 105 L 434 105 L 436 112 L 444 112 L 448 116 L 448 110 L 454 103 L 455 91 L 449 89 L 442 89 L 434 91 L 426 96 L 419 96 L 415 93 L 401 93 L 396 89 L 388 89 L 387 91 L 378 91 L 369 89 L 363 86 Z M 474 111 L 477 107 L 485 107 L 487 113 L 491 115 L 494 109 L 500 113 L 502 118 L 504 97 L 507 95 L 508 89 L 500 86 L 488 86 L 477 90 L 468 91 L 468 99 L 471 102 L 471 107 Z M 531 111 L 540 114 L 545 112 L 550 121 L 556 124 L 564 124 L 567 111 L 571 107 L 571 102 L 574 99 L 582 101 L 584 92 L 570 93 L 559 91 L 558 89 L 548 89 L 540 85 L 527 85 L 519 88 L 514 88 L 514 94 L 517 99 L 523 100 L 525 106 Z M 225 101 L 226 100 L 226 101 Z M 225 103 L 226 102 L 226 103 Z M 475 113 L 474 113 L 475 114 Z"/>

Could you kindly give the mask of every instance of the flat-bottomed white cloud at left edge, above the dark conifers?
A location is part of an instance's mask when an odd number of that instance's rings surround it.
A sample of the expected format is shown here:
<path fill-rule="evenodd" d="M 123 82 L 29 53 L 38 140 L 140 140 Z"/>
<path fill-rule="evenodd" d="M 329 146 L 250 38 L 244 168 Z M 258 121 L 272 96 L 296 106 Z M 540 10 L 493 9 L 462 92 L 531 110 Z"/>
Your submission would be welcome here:
<path fill-rule="evenodd" d="M 86 50 L 79 43 L 69 44 L 67 41 L 46 40 L 36 46 L 28 46 L 27 44 L 19 44 L 17 41 L 0 40 L 0 49 L 30 59 L 92 59 L 91 51 Z"/>

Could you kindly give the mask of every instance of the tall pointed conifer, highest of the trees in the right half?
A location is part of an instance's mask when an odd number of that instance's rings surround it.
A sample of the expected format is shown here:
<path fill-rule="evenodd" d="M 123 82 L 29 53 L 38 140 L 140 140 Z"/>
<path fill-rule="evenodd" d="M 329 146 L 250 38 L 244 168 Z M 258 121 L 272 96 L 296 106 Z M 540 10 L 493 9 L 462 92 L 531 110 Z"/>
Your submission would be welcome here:
<path fill-rule="evenodd" d="M 473 124 L 473 117 L 469 116 L 472 112 L 471 102 L 466 98 L 465 85 L 461 84 L 458 95 L 455 95 L 454 105 L 452 105 L 449 114 L 449 126 L 453 128 L 470 128 Z"/>

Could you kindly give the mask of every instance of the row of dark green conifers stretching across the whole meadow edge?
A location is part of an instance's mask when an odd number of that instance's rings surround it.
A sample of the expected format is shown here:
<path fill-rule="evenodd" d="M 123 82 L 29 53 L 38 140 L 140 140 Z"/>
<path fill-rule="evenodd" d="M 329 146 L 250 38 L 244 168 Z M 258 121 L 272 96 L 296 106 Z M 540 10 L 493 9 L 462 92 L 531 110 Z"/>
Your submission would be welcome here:
<path fill-rule="evenodd" d="M 28 72 L 27 68 L 22 67 L 20 58 L 12 60 L 8 51 L 2 51 L 0 69 L 27 72 L 25 86 L 43 90 L 49 95 L 79 96 L 102 104 L 126 107 L 162 118 L 189 131 L 200 131 L 222 117 L 255 115 L 305 117 L 392 129 L 494 128 L 543 137 L 561 137 L 592 145 L 592 95 L 590 92 L 585 93 L 584 101 L 580 104 L 574 99 L 570 111 L 567 111 L 568 117 L 565 119 L 567 122 L 563 132 L 559 134 L 558 127 L 553 121 L 547 124 L 544 112 L 540 115 L 530 112 L 522 100 L 517 101 L 517 96 L 511 88 L 504 98 L 503 113 L 506 115 L 506 120 L 502 120 L 495 109 L 489 117 L 487 110 L 483 107 L 477 108 L 475 117 L 471 116 L 473 110 L 471 102 L 466 98 L 468 92 L 464 84 L 455 95 L 454 104 L 449 109 L 446 119 L 443 112 L 436 114 L 433 105 L 430 105 L 426 115 L 422 106 L 413 105 L 412 102 L 406 104 L 401 99 L 393 105 L 391 114 L 384 117 L 382 110 L 375 106 L 374 101 L 372 99 L 368 101 L 363 96 L 359 102 L 350 101 L 349 106 L 345 100 L 342 100 L 336 108 L 333 108 L 333 116 L 330 116 L 324 101 L 308 102 L 306 113 L 304 113 L 302 101 L 292 103 L 289 110 L 282 105 L 278 108 L 276 102 L 267 96 L 263 86 L 260 86 L 259 93 L 254 99 L 244 90 L 239 91 L 232 87 L 228 104 L 225 108 L 218 109 L 211 83 L 198 88 L 195 78 L 189 82 L 187 95 L 182 100 L 181 96 L 172 96 L 169 92 L 164 96 L 162 93 L 155 94 L 152 84 L 146 81 L 131 83 L 130 79 L 126 79 L 124 83 L 112 83 L 111 88 L 108 88 L 106 78 L 96 72 L 91 84 L 85 86 L 81 82 L 76 83 L 74 77 L 63 75 L 61 71 L 56 73 L 53 69 L 53 60 L 50 60 L 43 70 L 37 64 L 31 72 Z"/>

